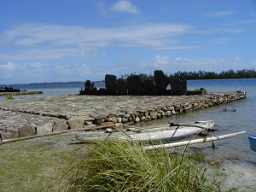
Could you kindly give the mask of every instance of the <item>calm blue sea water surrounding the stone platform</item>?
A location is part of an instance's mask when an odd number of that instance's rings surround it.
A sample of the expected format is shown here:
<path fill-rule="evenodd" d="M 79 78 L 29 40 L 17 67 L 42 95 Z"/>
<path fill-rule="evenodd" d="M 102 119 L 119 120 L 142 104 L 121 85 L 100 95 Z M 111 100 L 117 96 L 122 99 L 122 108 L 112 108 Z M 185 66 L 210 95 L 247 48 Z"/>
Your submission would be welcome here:
<path fill-rule="evenodd" d="M 0 86 L 3 86 L 0 84 Z M 43 95 L 34 96 L 61 96 L 68 94 L 78 94 L 83 83 L 79 84 L 28 84 L 28 85 L 10 85 L 15 88 L 30 90 L 43 90 Z M 104 87 L 104 84 L 98 83 L 96 87 Z M 168 121 L 177 123 L 196 120 L 214 120 L 218 131 L 213 135 L 223 135 L 236 131 L 247 131 L 238 137 L 220 140 L 215 142 L 216 149 L 211 148 L 211 144 L 202 145 L 202 151 L 213 159 L 230 159 L 251 163 L 256 166 L 256 152 L 249 148 L 247 137 L 256 136 L 256 79 L 218 79 L 218 80 L 193 80 L 188 81 L 188 89 L 205 88 L 208 92 L 218 91 L 246 91 L 247 99 L 227 103 L 216 108 L 198 110 L 193 113 L 174 116 L 168 119 L 160 119 L 148 122 L 147 125 L 166 124 Z M 32 97 L 32 96 L 15 96 Z M 4 97 L 0 97 L 0 101 Z M 224 108 L 227 111 L 224 112 Z M 234 112 L 233 108 L 236 109 Z"/>

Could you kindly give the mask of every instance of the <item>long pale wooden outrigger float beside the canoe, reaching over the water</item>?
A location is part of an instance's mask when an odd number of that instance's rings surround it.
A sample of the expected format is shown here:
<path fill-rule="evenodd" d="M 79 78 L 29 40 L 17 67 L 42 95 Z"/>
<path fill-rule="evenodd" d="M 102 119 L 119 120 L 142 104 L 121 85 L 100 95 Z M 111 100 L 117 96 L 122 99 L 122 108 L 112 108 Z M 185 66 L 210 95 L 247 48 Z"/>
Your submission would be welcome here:
<path fill-rule="evenodd" d="M 180 147 L 183 145 L 190 145 L 190 144 L 195 144 L 195 143 L 207 143 L 207 142 L 217 141 L 217 140 L 224 139 L 224 138 L 236 137 L 236 136 L 244 134 L 244 133 L 246 133 L 246 131 L 230 133 L 230 134 L 218 136 L 218 137 L 207 137 L 207 138 L 194 139 L 194 140 L 184 141 L 184 142 L 153 145 L 153 146 L 147 146 L 144 148 L 146 148 L 147 150 L 152 150 L 152 149 L 156 149 L 156 148 L 175 148 L 175 147 Z"/>

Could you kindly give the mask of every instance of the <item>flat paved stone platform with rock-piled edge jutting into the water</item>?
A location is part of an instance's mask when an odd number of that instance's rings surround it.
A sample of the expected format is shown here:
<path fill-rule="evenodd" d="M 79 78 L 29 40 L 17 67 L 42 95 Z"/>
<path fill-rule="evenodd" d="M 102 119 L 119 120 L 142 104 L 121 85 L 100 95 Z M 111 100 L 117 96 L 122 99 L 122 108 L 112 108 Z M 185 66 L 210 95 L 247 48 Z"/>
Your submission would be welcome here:
<path fill-rule="evenodd" d="M 201 96 L 50 96 L 0 102 L 0 140 L 53 131 L 133 124 L 211 108 L 246 93 Z"/>

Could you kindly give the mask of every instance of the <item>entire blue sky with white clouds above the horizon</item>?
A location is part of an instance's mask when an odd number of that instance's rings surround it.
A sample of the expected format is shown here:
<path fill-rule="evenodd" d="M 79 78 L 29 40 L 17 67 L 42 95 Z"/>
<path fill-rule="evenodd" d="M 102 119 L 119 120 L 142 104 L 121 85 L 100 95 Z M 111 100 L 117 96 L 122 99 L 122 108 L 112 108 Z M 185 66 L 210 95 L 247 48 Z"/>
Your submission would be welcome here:
<path fill-rule="evenodd" d="M 255 0 L 0 0 L 0 84 L 256 68 Z"/>

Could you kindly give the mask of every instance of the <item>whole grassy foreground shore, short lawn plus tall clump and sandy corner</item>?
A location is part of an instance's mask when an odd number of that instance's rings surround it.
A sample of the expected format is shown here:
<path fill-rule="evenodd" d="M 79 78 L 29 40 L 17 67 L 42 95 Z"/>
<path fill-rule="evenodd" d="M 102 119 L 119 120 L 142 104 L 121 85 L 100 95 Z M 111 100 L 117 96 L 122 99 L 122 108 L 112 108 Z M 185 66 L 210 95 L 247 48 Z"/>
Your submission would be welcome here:
<path fill-rule="evenodd" d="M 176 149 L 169 154 L 166 149 L 145 151 L 138 143 L 78 142 L 69 133 L 0 144 L 0 191 L 254 191 L 256 187 L 253 166 L 228 161 L 229 168 L 225 165 L 227 170 L 222 171 L 222 162 L 206 160 L 199 150 L 184 154 Z"/>

